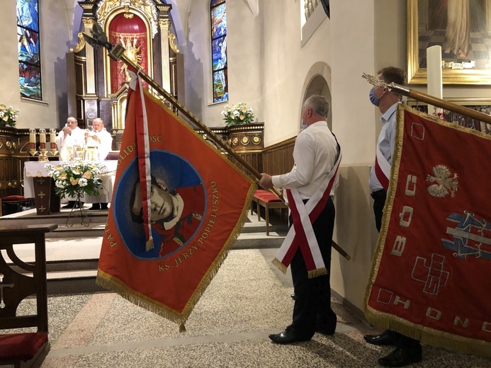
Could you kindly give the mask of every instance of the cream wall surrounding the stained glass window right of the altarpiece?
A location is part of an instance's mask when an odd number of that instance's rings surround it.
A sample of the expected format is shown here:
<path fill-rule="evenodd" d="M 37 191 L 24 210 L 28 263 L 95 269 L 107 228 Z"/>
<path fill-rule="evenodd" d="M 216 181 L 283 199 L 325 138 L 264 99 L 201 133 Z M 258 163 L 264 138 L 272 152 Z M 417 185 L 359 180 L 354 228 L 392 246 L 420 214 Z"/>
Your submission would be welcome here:
<path fill-rule="evenodd" d="M 262 121 L 259 107 L 259 19 L 244 1 L 227 1 L 229 101 L 213 103 L 209 6 L 209 1 L 193 0 L 189 7 L 188 38 L 182 48 L 186 72 L 184 103 L 208 126 L 224 125 L 221 112 L 227 103 L 247 103 Z"/>

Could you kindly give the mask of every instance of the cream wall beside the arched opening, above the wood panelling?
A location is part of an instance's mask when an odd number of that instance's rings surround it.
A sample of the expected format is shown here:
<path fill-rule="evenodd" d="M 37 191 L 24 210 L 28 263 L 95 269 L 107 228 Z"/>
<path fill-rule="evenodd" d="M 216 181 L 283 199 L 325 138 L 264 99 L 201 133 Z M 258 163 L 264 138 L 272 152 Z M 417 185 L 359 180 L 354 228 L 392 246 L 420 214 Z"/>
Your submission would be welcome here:
<path fill-rule="evenodd" d="M 312 65 L 330 64 L 331 30 L 329 18 L 325 17 L 302 47 L 300 1 L 261 1 L 259 16 L 264 33 L 261 42 L 264 142 L 269 146 L 298 134 L 305 79 Z M 330 86 L 331 81 L 327 80 L 327 84 Z"/>

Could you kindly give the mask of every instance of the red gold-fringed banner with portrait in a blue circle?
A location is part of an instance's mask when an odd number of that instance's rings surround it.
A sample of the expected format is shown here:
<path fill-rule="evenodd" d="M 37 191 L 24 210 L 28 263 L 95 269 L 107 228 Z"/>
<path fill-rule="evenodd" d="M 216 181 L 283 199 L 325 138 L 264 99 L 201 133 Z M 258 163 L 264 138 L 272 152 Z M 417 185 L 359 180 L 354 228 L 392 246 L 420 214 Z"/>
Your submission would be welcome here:
<path fill-rule="evenodd" d="M 97 283 L 184 324 L 238 236 L 256 185 L 147 91 L 142 110 L 140 96 L 130 91 Z M 153 248 L 137 157 L 145 110 Z"/>

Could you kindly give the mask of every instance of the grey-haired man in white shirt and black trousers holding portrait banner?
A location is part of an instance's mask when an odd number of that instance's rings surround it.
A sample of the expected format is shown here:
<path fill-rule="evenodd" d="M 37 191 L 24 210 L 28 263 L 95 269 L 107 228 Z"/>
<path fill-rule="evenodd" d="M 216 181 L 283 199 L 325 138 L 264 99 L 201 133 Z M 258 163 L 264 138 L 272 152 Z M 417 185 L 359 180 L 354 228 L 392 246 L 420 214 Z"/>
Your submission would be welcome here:
<path fill-rule="evenodd" d="M 305 100 L 301 118 L 302 125 L 307 127 L 298 134 L 295 141 L 293 149 L 295 166 L 290 173 L 283 175 L 269 176 L 261 173 L 261 180 L 259 180 L 261 187 L 268 189 L 274 185 L 278 189 L 296 188 L 304 203 L 310 200 L 324 179 L 332 173 L 341 151 L 336 138 L 327 127 L 328 115 L 329 102 L 324 97 L 314 95 Z M 269 335 L 275 343 L 307 341 L 312 338 L 315 331 L 333 335 L 336 330 L 336 314 L 331 308 L 329 281 L 335 216 L 332 197 L 337 188 L 337 177 L 334 176 L 333 180 L 334 185 L 329 192 L 327 204 L 312 224 L 327 275 L 309 278 L 303 253 L 300 247 L 297 249 L 290 263 L 295 289 L 293 321 L 282 333 Z M 291 215 L 289 223 L 292 226 Z"/>

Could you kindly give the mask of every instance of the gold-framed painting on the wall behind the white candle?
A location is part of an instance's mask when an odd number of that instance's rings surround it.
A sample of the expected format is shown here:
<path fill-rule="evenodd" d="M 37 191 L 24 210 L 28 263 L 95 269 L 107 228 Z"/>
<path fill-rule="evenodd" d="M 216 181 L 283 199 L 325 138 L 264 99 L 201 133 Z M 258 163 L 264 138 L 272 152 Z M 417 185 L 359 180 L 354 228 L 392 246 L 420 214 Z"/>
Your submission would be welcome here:
<path fill-rule="evenodd" d="M 427 84 L 426 50 L 434 45 L 444 84 L 491 84 L 491 0 L 408 0 L 410 84 Z"/>

